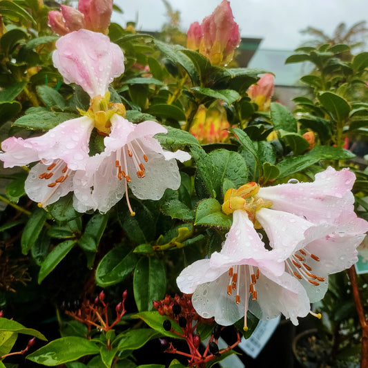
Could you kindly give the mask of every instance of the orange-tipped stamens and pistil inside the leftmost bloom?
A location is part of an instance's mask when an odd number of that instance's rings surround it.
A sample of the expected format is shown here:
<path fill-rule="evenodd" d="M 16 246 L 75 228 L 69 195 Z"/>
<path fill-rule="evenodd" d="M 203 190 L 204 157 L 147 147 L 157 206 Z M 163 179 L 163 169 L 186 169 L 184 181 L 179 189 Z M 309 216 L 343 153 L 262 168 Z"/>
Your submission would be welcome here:
<path fill-rule="evenodd" d="M 40 164 L 43 164 L 43 162 L 41 161 Z M 39 179 L 46 180 L 48 182 L 47 186 L 52 188 L 52 190 L 42 202 L 37 204 L 39 207 L 47 206 L 48 200 L 54 195 L 61 183 L 64 183 L 68 179 L 71 172 L 72 170 L 68 168 L 68 165 L 62 159 L 56 159 L 52 164 L 47 166 L 46 171 L 39 175 Z"/>

